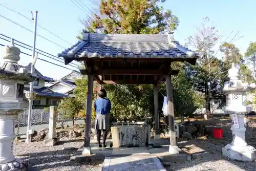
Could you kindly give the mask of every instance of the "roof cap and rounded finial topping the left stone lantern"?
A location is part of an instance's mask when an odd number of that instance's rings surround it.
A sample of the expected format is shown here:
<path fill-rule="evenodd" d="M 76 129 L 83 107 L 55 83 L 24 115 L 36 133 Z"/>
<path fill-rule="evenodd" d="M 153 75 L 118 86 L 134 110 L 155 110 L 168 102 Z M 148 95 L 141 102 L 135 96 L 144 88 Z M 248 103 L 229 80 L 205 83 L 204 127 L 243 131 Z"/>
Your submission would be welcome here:
<path fill-rule="evenodd" d="M 4 47 L 3 63 L 0 65 L 0 78 L 2 79 L 19 79 L 23 81 L 34 81 L 37 74 L 30 72 L 29 66 L 21 66 L 18 64 L 20 60 L 20 50 L 14 46 L 12 39 L 11 45 Z"/>

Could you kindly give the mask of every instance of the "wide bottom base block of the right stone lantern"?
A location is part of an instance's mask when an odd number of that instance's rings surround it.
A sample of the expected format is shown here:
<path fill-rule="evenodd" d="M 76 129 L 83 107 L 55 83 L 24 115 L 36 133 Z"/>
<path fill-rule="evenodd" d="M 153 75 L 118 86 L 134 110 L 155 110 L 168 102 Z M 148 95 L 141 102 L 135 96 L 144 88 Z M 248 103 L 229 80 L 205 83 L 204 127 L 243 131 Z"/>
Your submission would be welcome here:
<path fill-rule="evenodd" d="M 227 144 L 222 148 L 222 155 L 233 160 L 239 161 L 255 161 L 256 149 L 250 145 L 247 146 L 235 146 Z"/>

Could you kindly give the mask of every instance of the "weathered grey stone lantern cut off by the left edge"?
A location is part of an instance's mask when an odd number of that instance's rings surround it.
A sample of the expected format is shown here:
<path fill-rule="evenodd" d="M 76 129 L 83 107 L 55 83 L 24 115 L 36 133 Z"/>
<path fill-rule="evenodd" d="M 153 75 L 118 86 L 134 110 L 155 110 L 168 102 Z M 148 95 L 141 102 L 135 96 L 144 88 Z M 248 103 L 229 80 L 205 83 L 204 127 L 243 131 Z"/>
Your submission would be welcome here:
<path fill-rule="evenodd" d="M 20 66 L 19 48 L 11 45 L 4 47 L 3 63 L 0 65 L 0 170 L 26 170 L 22 160 L 15 159 L 12 149 L 15 120 L 21 111 L 28 109 L 24 98 L 24 83 L 36 79 L 29 66 Z"/>

